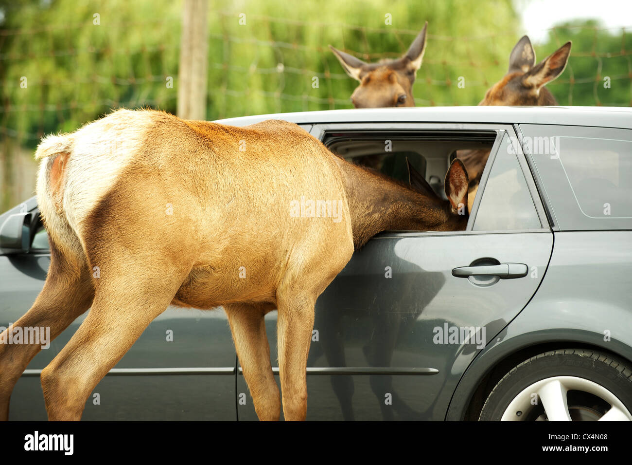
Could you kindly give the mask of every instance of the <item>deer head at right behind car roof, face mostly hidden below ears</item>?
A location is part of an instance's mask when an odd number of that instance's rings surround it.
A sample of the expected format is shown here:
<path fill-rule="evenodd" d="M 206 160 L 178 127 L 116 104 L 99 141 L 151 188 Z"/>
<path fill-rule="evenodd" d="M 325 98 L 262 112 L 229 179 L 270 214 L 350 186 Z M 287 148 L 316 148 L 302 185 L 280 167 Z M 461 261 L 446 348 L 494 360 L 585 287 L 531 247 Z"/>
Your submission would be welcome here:
<path fill-rule="evenodd" d="M 535 51 L 525 35 L 509 56 L 509 70 L 487 90 L 479 105 L 557 105 L 553 94 L 544 86 L 562 74 L 571 54 L 571 42 L 535 64 Z"/>

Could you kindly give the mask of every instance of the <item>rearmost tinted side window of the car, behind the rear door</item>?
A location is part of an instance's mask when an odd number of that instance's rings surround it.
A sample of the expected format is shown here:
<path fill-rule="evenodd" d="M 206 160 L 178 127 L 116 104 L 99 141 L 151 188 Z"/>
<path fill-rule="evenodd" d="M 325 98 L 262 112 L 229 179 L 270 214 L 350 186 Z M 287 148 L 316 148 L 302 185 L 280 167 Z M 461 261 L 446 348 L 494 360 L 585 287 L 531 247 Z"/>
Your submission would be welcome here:
<path fill-rule="evenodd" d="M 520 128 L 559 230 L 632 229 L 632 130 Z"/>

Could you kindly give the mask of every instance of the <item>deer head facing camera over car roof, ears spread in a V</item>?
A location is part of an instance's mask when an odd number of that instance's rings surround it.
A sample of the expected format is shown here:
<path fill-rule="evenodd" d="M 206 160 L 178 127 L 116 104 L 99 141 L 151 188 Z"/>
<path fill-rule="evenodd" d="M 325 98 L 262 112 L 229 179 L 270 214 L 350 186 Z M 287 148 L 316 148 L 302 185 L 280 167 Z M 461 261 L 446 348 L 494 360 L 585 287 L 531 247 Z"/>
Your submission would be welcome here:
<path fill-rule="evenodd" d="M 413 83 L 417 70 L 422 66 L 427 28 L 428 22 L 404 56 L 379 63 L 365 63 L 329 46 L 349 77 L 360 82 L 351 95 L 355 108 L 415 106 Z"/>

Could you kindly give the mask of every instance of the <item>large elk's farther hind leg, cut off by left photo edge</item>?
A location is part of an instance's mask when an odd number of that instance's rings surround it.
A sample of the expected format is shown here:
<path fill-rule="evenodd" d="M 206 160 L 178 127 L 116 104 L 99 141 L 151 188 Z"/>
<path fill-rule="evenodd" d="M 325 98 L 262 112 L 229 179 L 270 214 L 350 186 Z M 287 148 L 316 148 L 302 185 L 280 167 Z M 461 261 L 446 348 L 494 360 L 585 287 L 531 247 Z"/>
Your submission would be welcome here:
<path fill-rule="evenodd" d="M 87 263 L 80 266 L 62 256 L 51 240 L 51 266 L 44 288 L 13 328 L 50 328 L 50 343 L 90 307 L 93 299 L 94 285 Z M 8 341 L 8 331 L 0 340 Z M 0 344 L 0 420 L 8 419 L 13 387 L 42 345 L 41 340 L 37 344 Z"/>

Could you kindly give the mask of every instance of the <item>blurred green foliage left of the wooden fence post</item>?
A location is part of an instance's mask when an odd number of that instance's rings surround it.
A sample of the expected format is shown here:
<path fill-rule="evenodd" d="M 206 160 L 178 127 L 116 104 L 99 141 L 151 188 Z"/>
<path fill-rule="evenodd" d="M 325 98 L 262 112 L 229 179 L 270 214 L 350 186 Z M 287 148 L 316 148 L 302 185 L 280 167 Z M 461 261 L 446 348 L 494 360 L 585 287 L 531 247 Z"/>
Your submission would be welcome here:
<path fill-rule="evenodd" d="M 0 127 L 30 146 L 109 108 L 175 108 L 164 80 L 178 71 L 179 4 L 37 0 L 5 14 Z"/>

